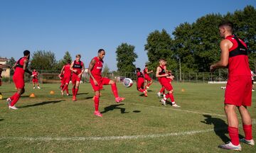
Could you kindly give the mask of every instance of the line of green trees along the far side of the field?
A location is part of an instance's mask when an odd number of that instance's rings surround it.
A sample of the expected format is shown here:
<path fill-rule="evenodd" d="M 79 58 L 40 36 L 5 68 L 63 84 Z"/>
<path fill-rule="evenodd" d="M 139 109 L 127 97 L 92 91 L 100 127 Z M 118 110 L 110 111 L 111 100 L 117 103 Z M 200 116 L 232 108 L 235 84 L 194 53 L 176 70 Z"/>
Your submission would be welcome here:
<path fill-rule="evenodd" d="M 182 72 L 208 72 L 210 64 L 220 60 L 220 36 L 218 24 L 223 20 L 232 21 L 235 35 L 245 41 L 249 48 L 250 62 L 256 58 L 256 10 L 253 6 L 246 6 L 243 10 L 228 12 L 225 15 L 210 13 L 198 18 L 193 23 L 181 23 L 170 34 L 165 29 L 154 30 L 149 33 L 144 50 L 148 56 L 149 69 L 156 69 L 159 59 L 167 61 L 168 69 L 178 72 L 181 62 Z M 117 72 L 134 72 L 134 62 L 137 54 L 135 46 L 123 42 L 117 47 Z M 67 51 L 62 60 L 55 59 L 54 52 L 38 50 L 31 55 L 31 69 L 60 70 L 63 65 L 72 60 Z M 15 60 L 11 57 L 9 65 Z M 254 63 L 250 67 L 255 69 Z M 104 73 L 110 71 L 105 65 Z"/>

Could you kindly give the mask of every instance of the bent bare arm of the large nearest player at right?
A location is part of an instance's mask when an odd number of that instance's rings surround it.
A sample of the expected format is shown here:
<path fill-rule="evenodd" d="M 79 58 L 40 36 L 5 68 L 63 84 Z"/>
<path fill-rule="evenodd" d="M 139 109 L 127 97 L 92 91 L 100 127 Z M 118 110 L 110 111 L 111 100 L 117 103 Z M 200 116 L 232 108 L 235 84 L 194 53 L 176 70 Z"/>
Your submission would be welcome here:
<path fill-rule="evenodd" d="M 229 48 L 232 47 L 230 40 L 222 40 L 220 42 L 220 61 L 210 65 L 210 72 L 214 72 L 215 69 L 225 68 L 228 66 Z"/>

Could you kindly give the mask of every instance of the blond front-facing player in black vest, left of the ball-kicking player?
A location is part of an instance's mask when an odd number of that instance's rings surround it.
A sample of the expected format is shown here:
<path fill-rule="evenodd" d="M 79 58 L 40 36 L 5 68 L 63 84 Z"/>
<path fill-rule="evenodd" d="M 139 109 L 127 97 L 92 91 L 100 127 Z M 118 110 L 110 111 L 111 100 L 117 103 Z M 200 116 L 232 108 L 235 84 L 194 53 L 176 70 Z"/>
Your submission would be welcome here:
<path fill-rule="evenodd" d="M 73 93 L 73 101 L 76 101 L 76 95 L 78 94 L 79 84 L 82 78 L 82 73 L 85 72 L 85 64 L 80 61 L 81 55 L 75 56 L 75 61 L 73 61 L 70 65 L 70 70 L 72 72 L 72 93 Z"/>

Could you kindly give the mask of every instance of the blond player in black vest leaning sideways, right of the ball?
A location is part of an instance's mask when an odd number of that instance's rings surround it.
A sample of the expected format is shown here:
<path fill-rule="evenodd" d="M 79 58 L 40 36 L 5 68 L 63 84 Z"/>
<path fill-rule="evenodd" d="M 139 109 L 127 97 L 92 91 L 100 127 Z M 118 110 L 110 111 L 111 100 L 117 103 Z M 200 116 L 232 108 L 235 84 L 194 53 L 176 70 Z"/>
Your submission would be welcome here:
<path fill-rule="evenodd" d="M 161 103 L 166 106 L 166 100 L 168 98 L 171 99 L 171 106 L 174 107 L 180 107 L 178 106 L 174 101 L 174 89 L 170 84 L 170 81 L 167 79 L 169 77 L 169 74 L 166 72 L 166 67 L 164 67 L 166 64 L 165 60 L 160 59 L 159 60 L 159 66 L 156 68 L 156 77 L 159 78 L 161 84 L 164 86 L 164 88 L 168 91 L 166 96 L 161 99 Z"/>

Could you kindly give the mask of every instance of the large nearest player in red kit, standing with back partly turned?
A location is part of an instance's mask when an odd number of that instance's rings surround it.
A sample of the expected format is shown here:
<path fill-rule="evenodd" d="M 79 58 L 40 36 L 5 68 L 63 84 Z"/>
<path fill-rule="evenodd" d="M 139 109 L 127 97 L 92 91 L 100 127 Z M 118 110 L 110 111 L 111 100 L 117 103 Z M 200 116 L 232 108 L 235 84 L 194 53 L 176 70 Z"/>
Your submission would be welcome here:
<path fill-rule="evenodd" d="M 230 142 L 218 147 L 223 149 L 241 150 L 240 142 L 255 145 L 252 139 L 252 120 L 247 106 L 252 104 L 252 79 L 245 42 L 233 35 L 233 23 L 224 21 L 220 23 L 220 61 L 210 65 L 210 72 L 218 68 L 228 67 L 228 83 L 225 90 L 224 109 L 228 118 L 228 134 Z M 238 116 L 235 108 L 238 107 L 242 117 L 242 127 L 245 138 L 238 137 Z"/>

